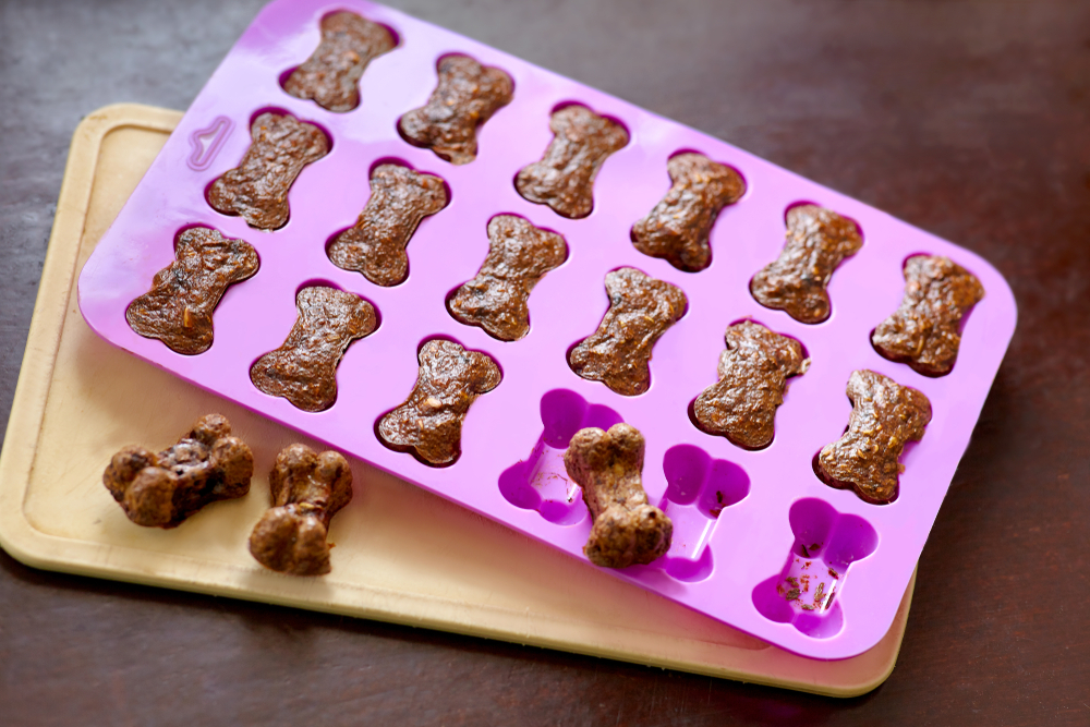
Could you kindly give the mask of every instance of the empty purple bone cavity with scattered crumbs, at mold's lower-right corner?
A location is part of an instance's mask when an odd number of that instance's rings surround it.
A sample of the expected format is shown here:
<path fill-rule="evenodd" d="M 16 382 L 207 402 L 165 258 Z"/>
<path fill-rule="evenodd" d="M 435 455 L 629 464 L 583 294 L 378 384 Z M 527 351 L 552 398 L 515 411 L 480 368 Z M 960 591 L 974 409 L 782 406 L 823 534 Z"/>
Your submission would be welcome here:
<path fill-rule="evenodd" d="M 837 596 L 851 564 L 877 548 L 877 532 L 859 516 L 837 512 L 815 498 L 796 501 L 789 520 L 791 553 L 779 574 L 753 590 L 753 605 L 765 618 L 790 623 L 808 637 L 835 637 L 844 627 Z"/>

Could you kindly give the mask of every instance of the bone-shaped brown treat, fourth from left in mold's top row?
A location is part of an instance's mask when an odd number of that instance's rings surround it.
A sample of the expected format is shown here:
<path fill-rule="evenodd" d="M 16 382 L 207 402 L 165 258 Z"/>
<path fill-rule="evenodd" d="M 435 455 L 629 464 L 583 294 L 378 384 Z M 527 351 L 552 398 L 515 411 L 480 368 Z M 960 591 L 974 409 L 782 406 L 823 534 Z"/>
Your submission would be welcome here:
<path fill-rule="evenodd" d="M 741 198 L 746 182 L 734 169 L 703 154 L 679 154 L 666 169 L 674 185 L 632 227 L 632 243 L 644 255 L 665 258 L 679 270 L 703 270 L 712 262 L 708 235 L 715 218 Z"/>

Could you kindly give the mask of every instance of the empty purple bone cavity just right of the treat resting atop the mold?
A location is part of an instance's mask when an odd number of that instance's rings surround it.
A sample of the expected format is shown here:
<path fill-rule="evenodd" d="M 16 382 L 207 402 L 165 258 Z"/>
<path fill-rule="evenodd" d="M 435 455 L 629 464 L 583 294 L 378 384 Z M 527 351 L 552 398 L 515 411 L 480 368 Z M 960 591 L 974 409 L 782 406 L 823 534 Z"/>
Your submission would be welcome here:
<path fill-rule="evenodd" d="M 704 580 L 714 568 L 712 533 L 723 511 L 749 495 L 749 475 L 693 445 L 666 450 L 663 470 L 667 487 L 658 508 L 674 522 L 674 540 L 661 565 L 679 581 Z"/>

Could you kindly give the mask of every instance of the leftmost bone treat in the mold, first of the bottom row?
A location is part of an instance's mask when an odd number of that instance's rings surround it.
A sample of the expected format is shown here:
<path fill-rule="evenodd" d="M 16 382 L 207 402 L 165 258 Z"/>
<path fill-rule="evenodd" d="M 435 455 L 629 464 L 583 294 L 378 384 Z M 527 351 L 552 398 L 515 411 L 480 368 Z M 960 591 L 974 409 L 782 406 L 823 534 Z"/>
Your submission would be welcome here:
<path fill-rule="evenodd" d="M 178 235 L 174 262 L 155 274 L 152 289 L 125 310 L 129 326 L 172 351 L 194 355 L 211 347 L 211 315 L 228 286 L 252 278 L 257 252 L 244 240 L 191 227 Z"/>

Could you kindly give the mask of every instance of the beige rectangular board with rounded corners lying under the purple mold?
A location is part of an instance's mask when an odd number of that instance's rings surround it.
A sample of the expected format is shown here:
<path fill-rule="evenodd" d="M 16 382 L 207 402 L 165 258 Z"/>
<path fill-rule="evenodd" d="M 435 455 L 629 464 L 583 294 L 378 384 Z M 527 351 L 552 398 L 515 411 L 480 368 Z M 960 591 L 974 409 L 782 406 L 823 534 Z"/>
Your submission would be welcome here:
<path fill-rule="evenodd" d="M 840 662 L 789 654 L 396 477 L 353 462 L 355 497 L 334 519 L 332 573 L 292 578 L 246 550 L 268 507 L 266 473 L 305 437 L 111 347 L 80 315 L 76 272 L 181 113 L 106 107 L 72 141 L 3 452 L 0 544 L 38 568 L 428 627 L 834 696 L 882 683 L 905 634 Z M 125 519 L 101 484 L 126 444 L 159 449 L 202 414 L 227 415 L 254 449 L 249 496 L 180 528 Z M 311 441 L 312 446 L 316 443 Z"/>

